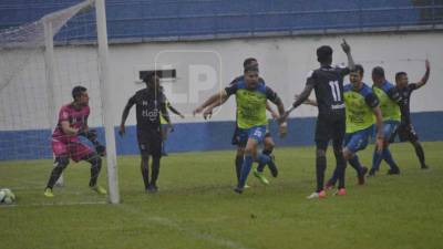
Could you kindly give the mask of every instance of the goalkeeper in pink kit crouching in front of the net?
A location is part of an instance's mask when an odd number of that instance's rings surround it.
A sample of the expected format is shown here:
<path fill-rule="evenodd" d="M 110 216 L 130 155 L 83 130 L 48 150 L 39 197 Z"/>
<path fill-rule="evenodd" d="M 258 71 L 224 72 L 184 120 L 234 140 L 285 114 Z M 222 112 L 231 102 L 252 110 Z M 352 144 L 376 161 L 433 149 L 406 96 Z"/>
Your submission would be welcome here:
<path fill-rule="evenodd" d="M 106 195 L 106 189 L 96 184 L 105 147 L 96 139 L 96 132 L 87 127 L 90 115 L 87 90 L 83 86 L 75 86 L 72 90 L 74 101 L 61 107 L 59 123 L 52 133 L 52 152 L 55 156 L 54 168 L 49 177 L 44 196 L 53 197 L 52 188 L 66 168 L 70 158 L 74 162 L 86 160 L 91 164 L 90 187 L 101 195 Z M 94 145 L 92 149 L 80 142 L 79 136 L 84 136 Z"/>

